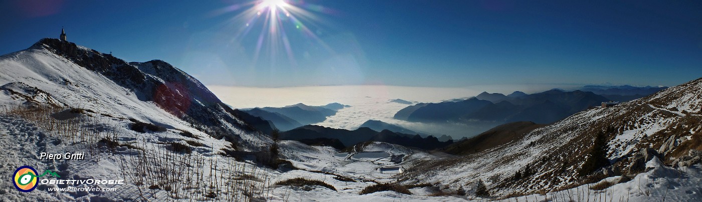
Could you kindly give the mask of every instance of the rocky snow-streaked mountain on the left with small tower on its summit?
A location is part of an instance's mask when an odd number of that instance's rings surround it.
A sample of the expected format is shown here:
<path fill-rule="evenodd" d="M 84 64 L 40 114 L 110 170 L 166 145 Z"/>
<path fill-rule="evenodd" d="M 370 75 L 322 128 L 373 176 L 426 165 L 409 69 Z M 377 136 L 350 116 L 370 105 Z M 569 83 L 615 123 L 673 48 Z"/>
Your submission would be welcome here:
<path fill-rule="evenodd" d="M 0 57 L 0 105 L 47 103 L 240 142 L 270 145 L 198 80 L 170 64 L 127 63 L 67 41 L 44 38 Z M 261 122 L 265 122 L 260 120 Z"/>

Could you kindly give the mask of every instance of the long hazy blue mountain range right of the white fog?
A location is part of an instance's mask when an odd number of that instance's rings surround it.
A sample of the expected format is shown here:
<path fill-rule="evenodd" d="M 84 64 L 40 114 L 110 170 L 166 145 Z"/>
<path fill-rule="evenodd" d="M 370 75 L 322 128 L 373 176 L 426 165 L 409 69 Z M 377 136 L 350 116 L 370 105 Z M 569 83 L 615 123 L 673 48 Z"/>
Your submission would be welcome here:
<path fill-rule="evenodd" d="M 579 111 L 600 106 L 604 101 L 630 101 L 665 88 L 628 85 L 585 86 L 574 91 L 551 89 L 536 94 L 517 91 L 509 96 L 482 92 L 468 99 L 454 99 L 442 103 L 417 103 L 399 110 L 394 118 L 409 122 L 528 121 L 550 124 Z"/>

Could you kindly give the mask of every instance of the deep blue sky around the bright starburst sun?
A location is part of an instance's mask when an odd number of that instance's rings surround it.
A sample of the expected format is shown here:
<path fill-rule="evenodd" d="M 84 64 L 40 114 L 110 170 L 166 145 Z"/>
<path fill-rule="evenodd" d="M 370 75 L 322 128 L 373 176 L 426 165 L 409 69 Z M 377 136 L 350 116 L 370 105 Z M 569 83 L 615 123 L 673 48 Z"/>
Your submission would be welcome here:
<path fill-rule="evenodd" d="M 673 86 L 702 76 L 701 1 L 286 1 L 307 14 L 287 7 L 296 23 L 278 11 L 275 31 L 246 15 L 251 2 L 3 1 L 0 54 L 65 27 L 78 45 L 161 59 L 206 85 Z"/>

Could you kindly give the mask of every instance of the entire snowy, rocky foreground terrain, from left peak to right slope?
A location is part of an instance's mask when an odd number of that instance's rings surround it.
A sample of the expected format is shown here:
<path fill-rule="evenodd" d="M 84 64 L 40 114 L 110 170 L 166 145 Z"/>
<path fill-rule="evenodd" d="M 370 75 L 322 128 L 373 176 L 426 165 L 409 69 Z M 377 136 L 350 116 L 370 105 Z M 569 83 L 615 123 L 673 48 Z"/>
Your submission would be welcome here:
<path fill-rule="evenodd" d="M 259 131 L 265 121 L 229 108 L 166 62 L 127 63 L 45 38 L 0 56 L 0 175 L 10 179 L 32 166 L 58 175 L 37 180 L 124 184 L 39 183 L 20 192 L 12 180 L 0 180 L 0 201 L 699 201 L 701 89 L 696 80 L 587 110 L 467 157 L 388 143 L 338 151 L 275 142 Z M 607 134 L 612 166 L 578 176 L 598 131 Z M 265 158 L 271 145 L 283 161 Z M 85 159 L 46 159 L 42 152 Z M 523 177 L 512 178 L 517 172 Z M 588 178 L 598 172 L 606 175 Z M 331 188 L 277 183 L 293 178 Z M 489 194 L 479 194 L 478 180 Z M 581 185 L 586 181 L 592 183 Z M 359 194 L 383 183 L 408 191 Z"/>

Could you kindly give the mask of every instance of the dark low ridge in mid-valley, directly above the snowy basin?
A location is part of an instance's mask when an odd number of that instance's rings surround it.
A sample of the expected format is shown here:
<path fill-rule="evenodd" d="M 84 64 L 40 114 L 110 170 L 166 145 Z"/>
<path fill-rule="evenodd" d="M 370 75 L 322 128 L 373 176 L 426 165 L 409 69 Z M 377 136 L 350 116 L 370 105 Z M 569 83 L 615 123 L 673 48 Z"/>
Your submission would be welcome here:
<path fill-rule="evenodd" d="M 346 129 L 320 127 L 316 125 L 306 125 L 304 127 L 299 127 L 290 131 L 281 132 L 280 138 L 282 140 L 298 140 L 303 143 L 316 144 L 324 144 L 330 142 L 329 140 L 325 139 L 321 139 L 324 141 L 319 141 L 320 138 L 336 139 L 340 140 L 340 142 L 343 143 L 343 145 L 346 147 L 356 145 L 359 143 L 364 143 L 367 141 L 379 141 L 409 147 L 418 147 L 425 150 L 432 150 L 439 147 L 445 147 L 446 145 L 450 145 L 451 143 L 453 143 L 453 140 L 439 141 L 439 139 L 435 138 L 434 136 L 427 136 L 423 138 L 418 134 L 401 134 L 390 130 L 383 130 L 378 132 L 366 127 L 362 127 L 350 131 Z"/>

